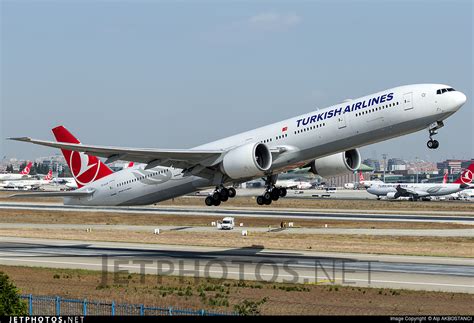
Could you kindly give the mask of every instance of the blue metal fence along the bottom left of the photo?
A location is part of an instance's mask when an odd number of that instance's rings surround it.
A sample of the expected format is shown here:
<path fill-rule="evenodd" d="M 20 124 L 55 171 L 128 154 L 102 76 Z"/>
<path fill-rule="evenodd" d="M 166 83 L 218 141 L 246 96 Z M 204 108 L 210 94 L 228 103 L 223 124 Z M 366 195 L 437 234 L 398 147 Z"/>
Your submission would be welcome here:
<path fill-rule="evenodd" d="M 152 307 L 144 304 L 122 304 L 115 302 L 69 299 L 59 296 L 21 295 L 28 305 L 29 315 L 151 315 L 151 316 L 230 316 L 232 312 L 193 310 L 178 307 Z"/>

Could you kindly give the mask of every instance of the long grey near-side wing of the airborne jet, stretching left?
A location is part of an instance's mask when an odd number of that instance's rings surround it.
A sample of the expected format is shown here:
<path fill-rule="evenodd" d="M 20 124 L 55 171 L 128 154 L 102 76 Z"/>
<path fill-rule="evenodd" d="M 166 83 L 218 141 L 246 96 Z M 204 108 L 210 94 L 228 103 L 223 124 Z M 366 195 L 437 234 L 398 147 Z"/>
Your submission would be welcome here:
<path fill-rule="evenodd" d="M 116 160 L 134 161 L 148 164 L 147 168 L 156 166 L 174 166 L 190 168 L 196 165 L 204 167 L 218 164 L 225 153 L 223 150 L 192 150 L 192 149 L 153 149 L 126 148 L 71 144 L 56 141 L 32 139 L 29 137 L 8 138 L 9 140 L 29 142 L 36 145 L 80 151 L 89 155 L 107 158 L 106 163 Z"/>

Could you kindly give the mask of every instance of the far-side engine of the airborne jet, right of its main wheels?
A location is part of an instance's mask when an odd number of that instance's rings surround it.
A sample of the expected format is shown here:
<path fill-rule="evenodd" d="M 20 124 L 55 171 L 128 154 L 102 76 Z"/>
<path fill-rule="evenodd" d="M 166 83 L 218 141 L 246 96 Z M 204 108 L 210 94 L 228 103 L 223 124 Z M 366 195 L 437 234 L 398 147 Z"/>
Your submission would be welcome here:
<path fill-rule="evenodd" d="M 321 177 L 351 174 L 360 167 L 360 153 L 351 149 L 342 153 L 315 159 L 311 162 L 311 172 Z"/>

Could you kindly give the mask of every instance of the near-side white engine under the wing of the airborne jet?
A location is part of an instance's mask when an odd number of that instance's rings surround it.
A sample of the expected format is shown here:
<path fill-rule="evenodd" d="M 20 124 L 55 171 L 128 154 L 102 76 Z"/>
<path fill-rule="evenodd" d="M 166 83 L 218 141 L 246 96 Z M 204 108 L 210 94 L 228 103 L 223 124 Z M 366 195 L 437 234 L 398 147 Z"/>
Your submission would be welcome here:
<path fill-rule="evenodd" d="M 260 176 L 272 166 L 272 154 L 265 144 L 249 143 L 229 151 L 221 171 L 232 179 Z"/>

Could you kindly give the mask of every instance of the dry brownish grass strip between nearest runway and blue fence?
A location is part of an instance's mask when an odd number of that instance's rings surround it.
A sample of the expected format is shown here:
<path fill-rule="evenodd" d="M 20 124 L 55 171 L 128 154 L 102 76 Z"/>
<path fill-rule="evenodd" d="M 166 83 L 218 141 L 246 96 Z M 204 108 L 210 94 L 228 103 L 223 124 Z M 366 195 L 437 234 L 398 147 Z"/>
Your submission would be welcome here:
<path fill-rule="evenodd" d="M 443 315 L 473 314 L 474 295 L 337 285 L 288 285 L 215 279 L 124 274 L 103 284 L 102 273 L 86 270 L 0 266 L 22 293 L 234 311 L 248 302 L 261 314 Z M 143 280 L 142 280 L 143 278 Z"/>

